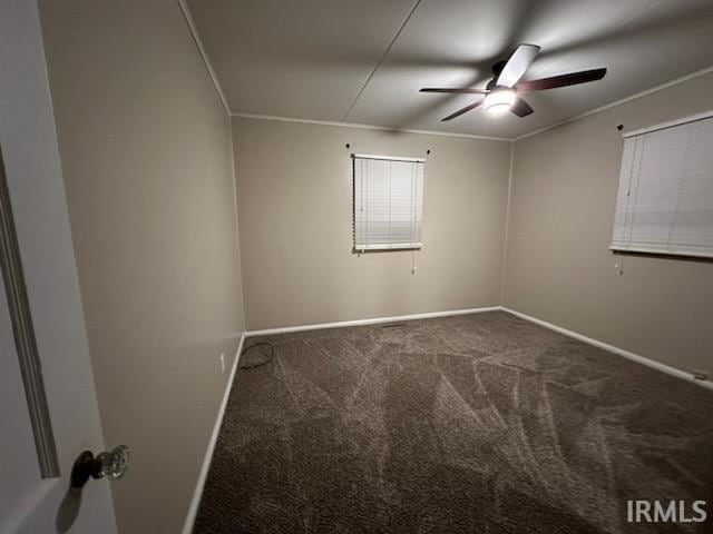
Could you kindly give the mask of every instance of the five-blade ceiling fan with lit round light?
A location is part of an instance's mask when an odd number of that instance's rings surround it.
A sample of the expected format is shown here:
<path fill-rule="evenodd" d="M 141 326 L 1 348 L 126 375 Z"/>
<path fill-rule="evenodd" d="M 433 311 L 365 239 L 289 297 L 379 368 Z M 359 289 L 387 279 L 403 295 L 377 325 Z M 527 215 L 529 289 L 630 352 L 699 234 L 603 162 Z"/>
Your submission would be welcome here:
<path fill-rule="evenodd" d="M 530 91 L 541 91 L 545 89 L 555 89 L 556 87 L 596 81 L 606 75 L 606 69 L 592 69 L 541 78 L 539 80 L 519 81 L 535 60 L 539 49 L 540 47 L 536 44 L 518 46 L 507 61 L 498 61 L 492 66 L 494 76 L 485 89 L 424 87 L 421 89 L 421 92 L 485 95 L 482 100 L 478 100 L 475 103 L 459 109 L 455 113 L 441 119 L 441 121 L 455 119 L 471 109 L 476 109 L 480 105 L 485 105 L 488 115 L 497 116 L 511 111 L 518 117 L 527 117 L 533 112 L 533 108 L 525 101 L 522 95 Z"/>

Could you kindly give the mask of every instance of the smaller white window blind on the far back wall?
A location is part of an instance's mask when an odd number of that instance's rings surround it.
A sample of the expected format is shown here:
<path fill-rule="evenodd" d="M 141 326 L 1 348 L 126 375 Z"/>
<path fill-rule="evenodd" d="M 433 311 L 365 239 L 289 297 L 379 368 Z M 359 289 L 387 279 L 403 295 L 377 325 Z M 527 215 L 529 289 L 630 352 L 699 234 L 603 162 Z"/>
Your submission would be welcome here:
<path fill-rule="evenodd" d="M 353 156 L 354 249 L 421 248 L 423 162 Z"/>

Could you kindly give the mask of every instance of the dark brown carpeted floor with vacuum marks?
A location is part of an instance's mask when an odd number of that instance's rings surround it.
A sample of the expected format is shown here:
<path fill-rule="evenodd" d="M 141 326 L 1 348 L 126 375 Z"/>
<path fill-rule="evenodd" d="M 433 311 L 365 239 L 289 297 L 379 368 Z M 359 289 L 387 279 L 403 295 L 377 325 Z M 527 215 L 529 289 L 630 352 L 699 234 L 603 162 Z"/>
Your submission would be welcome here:
<path fill-rule="evenodd" d="M 265 340 L 196 534 L 711 528 L 626 523 L 627 500 L 713 516 L 711 390 L 501 312 Z"/>

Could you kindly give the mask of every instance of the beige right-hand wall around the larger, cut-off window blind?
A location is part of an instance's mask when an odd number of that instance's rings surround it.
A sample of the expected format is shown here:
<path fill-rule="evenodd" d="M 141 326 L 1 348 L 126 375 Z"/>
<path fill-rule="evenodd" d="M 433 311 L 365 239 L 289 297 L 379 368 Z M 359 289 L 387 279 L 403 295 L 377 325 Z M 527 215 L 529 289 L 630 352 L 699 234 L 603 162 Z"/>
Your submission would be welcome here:
<path fill-rule="evenodd" d="M 713 370 L 713 263 L 608 249 L 624 131 L 713 109 L 713 75 L 517 141 L 505 305 L 682 369 Z"/>

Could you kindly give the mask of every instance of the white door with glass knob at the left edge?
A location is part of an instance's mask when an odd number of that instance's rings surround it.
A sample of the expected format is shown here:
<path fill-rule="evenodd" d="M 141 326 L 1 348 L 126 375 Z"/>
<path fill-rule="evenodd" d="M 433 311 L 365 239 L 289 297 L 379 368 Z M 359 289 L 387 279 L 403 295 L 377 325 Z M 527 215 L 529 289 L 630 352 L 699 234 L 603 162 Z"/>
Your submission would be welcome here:
<path fill-rule="evenodd" d="M 20 258 L 25 279 L 20 284 L 25 289 L 22 307 L 17 298 L 20 286 L 13 284 L 11 291 L 6 290 L 4 283 L 17 279 L 7 276 L 7 261 L 2 264 L 0 533 L 113 534 L 116 522 L 109 483 L 90 479 L 81 493 L 69 491 L 75 458 L 87 449 L 99 453 L 105 444 L 46 69 L 36 0 L 0 0 L 0 149 L 4 169 L 0 178 L 7 184 L 6 204 L 9 197 L 13 215 L 19 251 L 13 257 Z M 7 248 L 4 237 L 0 243 Z M 27 322 L 21 323 L 23 328 L 18 327 L 18 308 L 28 312 L 30 328 Z M 33 333 L 29 345 L 35 345 L 35 350 L 28 350 L 28 339 L 20 335 L 28 332 Z M 45 427 L 37 424 L 42 403 L 28 402 L 28 384 L 38 382 L 28 383 L 27 365 L 22 367 L 25 377 L 21 374 L 20 362 L 27 364 L 21 355 L 28 353 L 36 355 L 41 370 L 42 387 L 30 392 L 29 398 L 45 400 Z M 38 439 L 42 428 L 43 437 Z M 38 454 L 38 443 L 43 444 L 42 454 Z"/>

